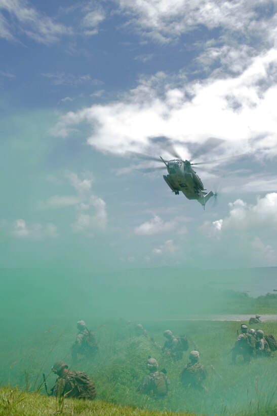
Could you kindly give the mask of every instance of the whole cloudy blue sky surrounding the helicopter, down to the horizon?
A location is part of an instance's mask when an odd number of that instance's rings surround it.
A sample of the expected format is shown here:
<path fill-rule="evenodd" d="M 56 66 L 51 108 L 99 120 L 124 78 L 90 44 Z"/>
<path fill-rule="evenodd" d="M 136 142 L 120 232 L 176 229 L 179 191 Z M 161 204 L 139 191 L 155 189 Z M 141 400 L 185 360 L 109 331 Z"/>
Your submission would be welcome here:
<path fill-rule="evenodd" d="M 276 265 L 277 2 L 0 0 L 1 267 Z M 166 136 L 216 206 L 171 193 Z M 235 155 L 245 154 L 235 158 Z"/>

